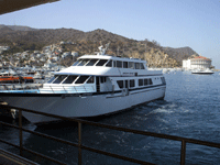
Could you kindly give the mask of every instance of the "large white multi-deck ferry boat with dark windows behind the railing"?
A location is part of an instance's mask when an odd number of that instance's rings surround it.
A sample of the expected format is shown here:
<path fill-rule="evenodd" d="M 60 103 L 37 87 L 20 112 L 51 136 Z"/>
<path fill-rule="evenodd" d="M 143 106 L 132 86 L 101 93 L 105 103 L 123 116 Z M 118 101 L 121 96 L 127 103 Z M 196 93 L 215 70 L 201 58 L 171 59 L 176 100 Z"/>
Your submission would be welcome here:
<path fill-rule="evenodd" d="M 166 82 L 160 70 L 147 70 L 146 62 L 106 55 L 84 55 L 70 67 L 55 73 L 40 89 L 1 90 L 9 106 L 81 118 L 109 114 L 163 99 Z M 33 123 L 57 120 L 23 111 Z"/>

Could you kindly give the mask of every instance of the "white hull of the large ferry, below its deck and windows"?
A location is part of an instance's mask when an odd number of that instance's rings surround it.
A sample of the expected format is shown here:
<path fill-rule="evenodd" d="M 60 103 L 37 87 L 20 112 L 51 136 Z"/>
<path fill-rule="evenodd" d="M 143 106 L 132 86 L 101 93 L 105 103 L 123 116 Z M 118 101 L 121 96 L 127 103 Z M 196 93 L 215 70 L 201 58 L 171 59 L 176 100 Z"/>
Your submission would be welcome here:
<path fill-rule="evenodd" d="M 165 86 L 156 86 L 140 90 L 130 91 L 128 96 L 123 92 L 106 94 L 96 96 L 51 96 L 42 97 L 41 95 L 30 97 L 29 95 L 22 97 L 1 96 L 1 100 L 9 103 L 9 106 L 46 112 L 68 118 L 79 117 L 97 117 L 117 112 L 132 106 L 143 102 L 156 100 L 165 96 Z M 42 123 L 55 121 L 55 118 L 45 116 L 22 112 L 29 121 L 33 123 Z"/>

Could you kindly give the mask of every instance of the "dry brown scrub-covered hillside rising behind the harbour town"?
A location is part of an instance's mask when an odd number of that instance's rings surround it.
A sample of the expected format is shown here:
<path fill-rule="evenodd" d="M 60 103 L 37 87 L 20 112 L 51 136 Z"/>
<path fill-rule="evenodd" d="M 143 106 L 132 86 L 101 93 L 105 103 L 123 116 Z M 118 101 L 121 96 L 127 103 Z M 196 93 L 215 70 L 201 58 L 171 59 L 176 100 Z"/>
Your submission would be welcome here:
<path fill-rule="evenodd" d="M 162 47 L 155 41 L 135 41 L 105 30 L 82 32 L 74 29 L 32 29 L 29 26 L 0 25 L 0 45 L 8 45 L 11 52 L 42 50 L 46 45 L 70 41 L 63 45 L 65 51 L 76 51 L 80 55 L 98 51 L 101 44 L 111 43 L 108 54 L 145 58 L 150 66 L 180 66 L 184 58 L 196 52 L 190 47 Z"/>

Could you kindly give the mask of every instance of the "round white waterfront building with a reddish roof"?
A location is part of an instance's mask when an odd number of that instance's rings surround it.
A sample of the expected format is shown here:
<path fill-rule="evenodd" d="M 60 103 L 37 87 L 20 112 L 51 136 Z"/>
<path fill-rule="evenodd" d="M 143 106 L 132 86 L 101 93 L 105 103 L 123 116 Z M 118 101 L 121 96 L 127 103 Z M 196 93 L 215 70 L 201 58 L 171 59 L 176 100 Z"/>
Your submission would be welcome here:
<path fill-rule="evenodd" d="M 184 69 L 207 69 L 211 68 L 211 59 L 204 56 L 194 56 L 183 61 Z"/>

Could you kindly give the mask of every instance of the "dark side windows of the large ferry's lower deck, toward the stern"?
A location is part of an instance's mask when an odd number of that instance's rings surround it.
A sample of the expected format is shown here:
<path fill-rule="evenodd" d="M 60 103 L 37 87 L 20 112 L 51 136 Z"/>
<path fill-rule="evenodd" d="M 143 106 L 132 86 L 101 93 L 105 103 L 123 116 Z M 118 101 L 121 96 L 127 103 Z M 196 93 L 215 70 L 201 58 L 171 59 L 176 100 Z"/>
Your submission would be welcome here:
<path fill-rule="evenodd" d="M 119 88 L 133 88 L 135 87 L 135 80 L 130 79 L 130 80 L 117 80 L 117 84 L 119 85 Z M 145 79 L 139 79 L 139 86 L 148 86 L 153 85 L 153 81 L 151 78 L 145 78 Z"/>

